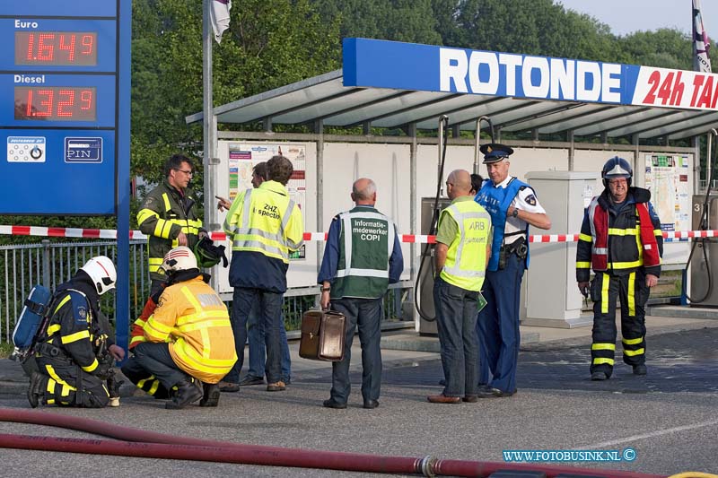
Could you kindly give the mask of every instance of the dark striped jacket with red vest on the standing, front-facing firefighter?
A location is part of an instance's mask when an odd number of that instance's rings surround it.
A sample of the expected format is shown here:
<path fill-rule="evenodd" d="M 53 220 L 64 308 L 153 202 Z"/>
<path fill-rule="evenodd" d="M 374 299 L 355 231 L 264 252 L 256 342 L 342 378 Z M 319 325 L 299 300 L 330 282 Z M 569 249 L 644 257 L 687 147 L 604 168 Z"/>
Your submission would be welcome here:
<path fill-rule="evenodd" d="M 576 248 L 577 282 L 588 282 L 591 268 L 626 275 L 643 267 L 645 274 L 661 275 L 661 221 L 650 199 L 641 187 L 630 187 L 621 204 L 611 203 L 608 190 L 592 199 Z"/>

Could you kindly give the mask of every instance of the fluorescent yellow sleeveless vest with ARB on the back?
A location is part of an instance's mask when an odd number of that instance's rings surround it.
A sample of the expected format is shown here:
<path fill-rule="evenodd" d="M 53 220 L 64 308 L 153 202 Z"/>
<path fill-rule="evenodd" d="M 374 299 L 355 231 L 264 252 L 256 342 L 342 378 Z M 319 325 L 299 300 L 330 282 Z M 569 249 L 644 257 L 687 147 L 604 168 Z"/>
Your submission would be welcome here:
<path fill-rule="evenodd" d="M 460 201 L 442 211 L 449 214 L 458 228 L 446 252 L 441 277 L 467 291 L 481 291 L 486 272 L 486 244 L 491 237 L 491 216 L 474 201 Z"/>

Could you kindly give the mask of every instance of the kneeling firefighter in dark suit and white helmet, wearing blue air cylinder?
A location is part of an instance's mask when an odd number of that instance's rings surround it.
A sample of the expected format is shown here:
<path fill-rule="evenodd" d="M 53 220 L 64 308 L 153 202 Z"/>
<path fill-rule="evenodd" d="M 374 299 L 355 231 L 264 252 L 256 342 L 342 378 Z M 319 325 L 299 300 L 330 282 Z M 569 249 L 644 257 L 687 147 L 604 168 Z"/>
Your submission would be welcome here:
<path fill-rule="evenodd" d="M 105 384 L 113 359 L 125 351 L 110 339 L 100 311 L 100 296 L 115 288 L 115 265 L 106 256 L 92 257 L 74 276 L 57 286 L 50 319 L 39 337 L 28 388 L 32 408 L 39 404 L 101 408 L 109 403 Z"/>

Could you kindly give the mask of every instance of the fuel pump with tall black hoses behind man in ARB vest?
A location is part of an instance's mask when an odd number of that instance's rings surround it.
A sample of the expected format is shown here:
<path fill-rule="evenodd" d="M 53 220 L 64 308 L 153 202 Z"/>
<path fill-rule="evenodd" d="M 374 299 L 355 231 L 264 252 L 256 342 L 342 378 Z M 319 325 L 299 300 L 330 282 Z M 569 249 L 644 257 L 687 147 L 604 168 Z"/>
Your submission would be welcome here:
<path fill-rule="evenodd" d="M 489 126 L 489 135 L 491 142 L 494 143 L 494 126 L 489 117 L 479 117 L 476 126 L 476 142 L 474 147 L 474 165 L 473 172 L 478 173 L 479 168 L 479 150 L 478 143 L 481 133 L 481 122 L 485 121 Z M 436 195 L 434 197 L 422 198 L 421 208 L 421 233 L 433 236 L 436 234 L 436 226 L 439 220 L 439 213 L 451 202 L 449 198 L 443 196 L 443 168 L 446 160 L 446 145 L 448 142 L 448 126 L 449 117 L 443 115 L 439 119 L 439 164 L 438 178 L 436 179 Z M 419 270 L 416 274 L 416 283 L 414 287 L 414 304 L 416 312 L 418 312 L 419 334 L 420 335 L 436 335 L 436 316 L 433 308 L 433 276 L 435 268 L 433 263 L 433 244 L 425 244 L 424 250 L 419 262 Z M 428 262 L 428 264 L 427 264 Z M 421 293 L 419 297 L 419 293 Z"/>

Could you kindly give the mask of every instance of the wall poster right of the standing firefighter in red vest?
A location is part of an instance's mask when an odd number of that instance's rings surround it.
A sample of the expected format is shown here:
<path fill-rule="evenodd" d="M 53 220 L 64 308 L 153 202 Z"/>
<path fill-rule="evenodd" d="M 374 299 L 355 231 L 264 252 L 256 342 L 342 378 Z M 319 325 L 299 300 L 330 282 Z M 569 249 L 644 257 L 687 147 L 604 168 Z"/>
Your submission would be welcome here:
<path fill-rule="evenodd" d="M 690 230 L 688 157 L 683 154 L 646 154 L 645 187 L 661 218 L 661 230 Z M 666 239 L 666 241 L 679 239 Z"/>

